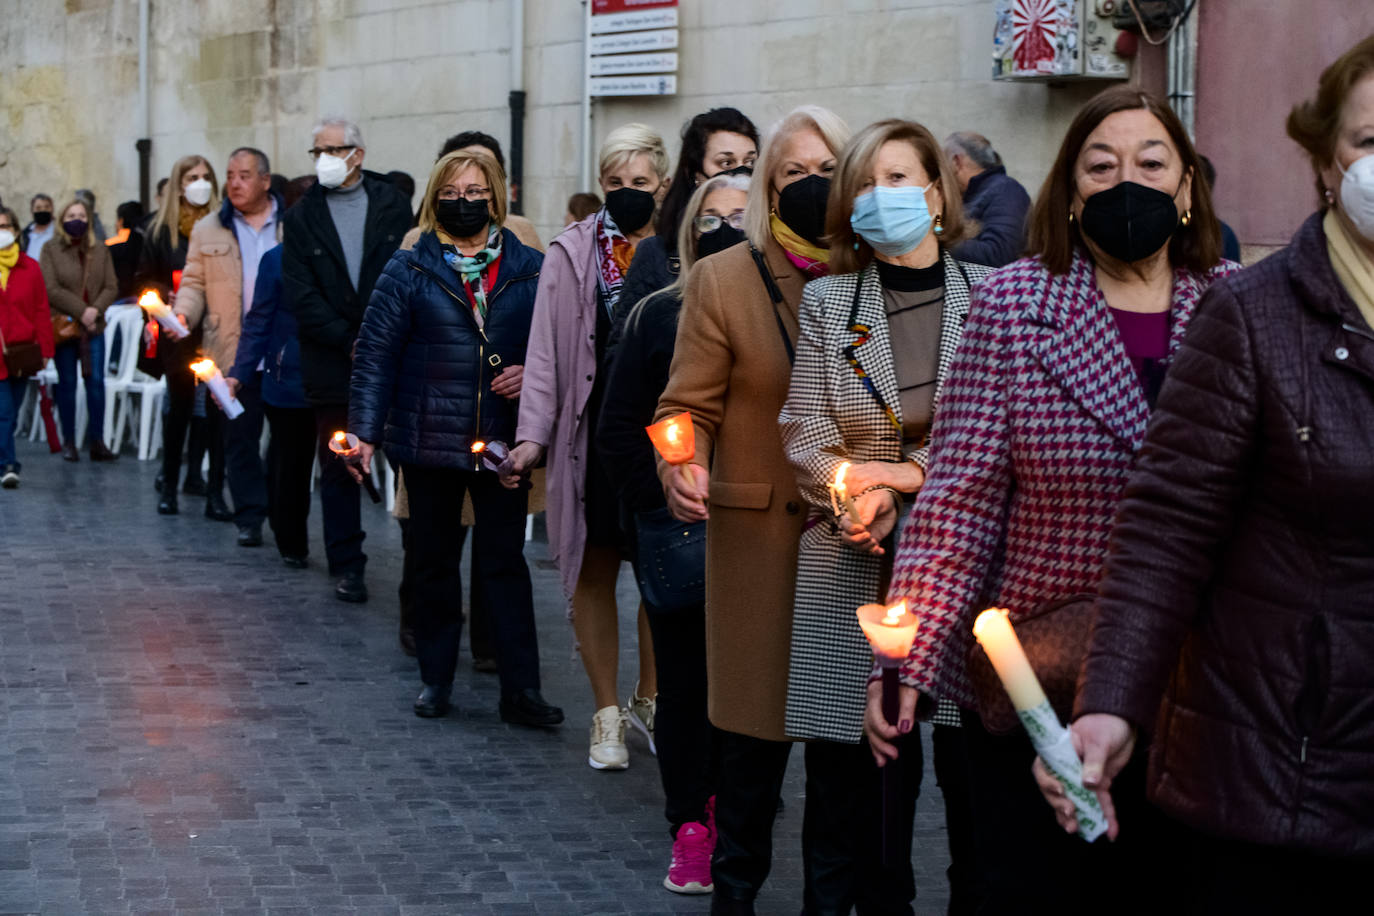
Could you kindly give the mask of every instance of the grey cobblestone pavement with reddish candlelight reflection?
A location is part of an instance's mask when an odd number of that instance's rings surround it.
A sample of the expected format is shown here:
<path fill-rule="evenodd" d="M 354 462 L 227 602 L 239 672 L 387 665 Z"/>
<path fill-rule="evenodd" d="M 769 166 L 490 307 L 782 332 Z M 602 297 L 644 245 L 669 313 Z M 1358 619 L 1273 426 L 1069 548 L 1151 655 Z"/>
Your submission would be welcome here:
<path fill-rule="evenodd" d="M 662 889 L 647 747 L 629 739 L 627 772 L 587 766 L 591 698 L 541 542 L 529 556 L 544 695 L 567 724 L 504 725 L 496 678 L 466 659 L 456 714 L 427 721 L 409 709 L 400 537 L 381 508 L 364 514 L 372 600 L 353 606 L 322 569 L 317 503 L 312 567 L 294 571 L 271 537 L 236 547 L 202 500 L 158 516 L 155 463 L 128 449 L 114 466 L 29 442 L 19 457 L 21 489 L 0 492 L 0 913 L 709 909 Z M 628 575 L 621 599 L 632 607 Z M 916 909 L 938 913 L 929 772 L 923 790 Z M 800 753 L 785 802 L 760 913 L 801 908 Z"/>

